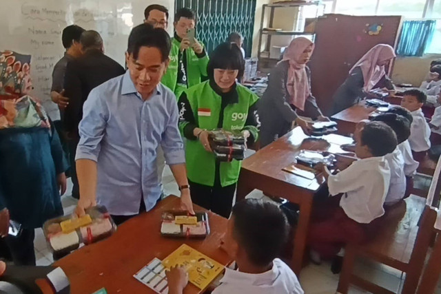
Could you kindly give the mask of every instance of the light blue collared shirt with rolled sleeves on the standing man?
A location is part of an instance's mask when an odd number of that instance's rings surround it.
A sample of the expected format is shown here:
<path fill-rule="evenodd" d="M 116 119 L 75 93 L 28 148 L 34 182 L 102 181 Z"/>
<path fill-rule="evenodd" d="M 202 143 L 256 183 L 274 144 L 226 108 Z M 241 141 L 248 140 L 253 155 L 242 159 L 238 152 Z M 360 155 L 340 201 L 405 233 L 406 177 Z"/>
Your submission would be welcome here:
<path fill-rule="evenodd" d="M 79 134 L 76 160 L 97 162 L 96 200 L 112 215 L 139 213 L 141 196 L 147 211 L 156 204 L 158 145 L 168 165 L 185 162 L 176 97 L 159 83 L 143 101 L 128 71 L 90 92 Z"/>

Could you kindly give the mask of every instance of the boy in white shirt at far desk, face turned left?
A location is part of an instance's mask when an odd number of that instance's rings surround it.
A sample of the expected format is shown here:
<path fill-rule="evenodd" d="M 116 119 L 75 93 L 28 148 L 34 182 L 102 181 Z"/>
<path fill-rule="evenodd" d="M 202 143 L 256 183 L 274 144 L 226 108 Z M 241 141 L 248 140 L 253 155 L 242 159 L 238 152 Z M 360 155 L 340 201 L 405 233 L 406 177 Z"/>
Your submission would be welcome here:
<path fill-rule="evenodd" d="M 401 106 L 409 110 L 412 114 L 413 122 L 411 124 L 411 136 L 409 143 L 411 145 L 413 158 L 420 161 L 430 149 L 430 127 L 424 118 L 421 107 L 426 103 L 427 96 L 420 90 L 408 90 L 404 92 Z"/>

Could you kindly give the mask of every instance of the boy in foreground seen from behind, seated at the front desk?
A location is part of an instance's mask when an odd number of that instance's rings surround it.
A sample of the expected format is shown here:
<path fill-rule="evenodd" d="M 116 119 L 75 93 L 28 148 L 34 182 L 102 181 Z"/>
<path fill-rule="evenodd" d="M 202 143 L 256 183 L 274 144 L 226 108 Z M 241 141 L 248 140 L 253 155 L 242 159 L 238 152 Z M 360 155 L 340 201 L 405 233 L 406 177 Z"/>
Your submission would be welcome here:
<path fill-rule="evenodd" d="M 302 294 L 296 274 L 276 258 L 288 236 L 285 214 L 276 204 L 247 199 L 238 202 L 228 220 L 223 248 L 238 270 L 225 269 L 212 294 Z M 169 294 L 182 294 L 188 277 L 182 267 L 167 273 Z"/>

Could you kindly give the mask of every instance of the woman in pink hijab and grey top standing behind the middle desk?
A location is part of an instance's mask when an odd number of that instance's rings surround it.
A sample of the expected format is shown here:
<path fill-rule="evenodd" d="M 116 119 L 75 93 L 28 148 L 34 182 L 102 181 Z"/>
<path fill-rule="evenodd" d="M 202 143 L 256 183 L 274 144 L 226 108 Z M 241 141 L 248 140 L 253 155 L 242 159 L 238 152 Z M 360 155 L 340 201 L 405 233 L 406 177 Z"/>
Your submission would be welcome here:
<path fill-rule="evenodd" d="M 311 94 L 311 72 L 307 62 L 314 51 L 314 43 L 304 37 L 293 39 L 283 59 L 269 75 L 268 87 L 260 99 L 260 146 L 264 147 L 285 135 L 294 124 L 311 132 L 311 123 L 298 115 L 328 120 Z"/>

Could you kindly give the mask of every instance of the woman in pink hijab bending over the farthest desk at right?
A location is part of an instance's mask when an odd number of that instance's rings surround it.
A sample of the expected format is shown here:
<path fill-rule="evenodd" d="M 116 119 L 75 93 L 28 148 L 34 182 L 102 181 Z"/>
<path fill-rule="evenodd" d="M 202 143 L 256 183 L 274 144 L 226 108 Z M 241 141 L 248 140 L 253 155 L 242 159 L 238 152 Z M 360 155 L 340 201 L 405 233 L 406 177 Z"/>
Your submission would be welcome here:
<path fill-rule="evenodd" d="M 395 57 L 393 48 L 386 44 L 378 44 L 362 56 L 349 71 L 345 83 L 334 94 L 331 114 L 351 107 L 362 98 L 373 96 L 369 91 L 378 87 L 393 90 L 395 87 L 387 77 L 386 67 Z"/>

